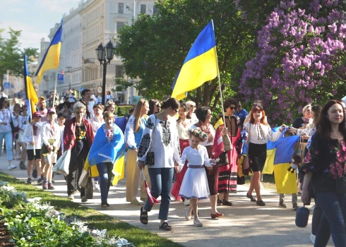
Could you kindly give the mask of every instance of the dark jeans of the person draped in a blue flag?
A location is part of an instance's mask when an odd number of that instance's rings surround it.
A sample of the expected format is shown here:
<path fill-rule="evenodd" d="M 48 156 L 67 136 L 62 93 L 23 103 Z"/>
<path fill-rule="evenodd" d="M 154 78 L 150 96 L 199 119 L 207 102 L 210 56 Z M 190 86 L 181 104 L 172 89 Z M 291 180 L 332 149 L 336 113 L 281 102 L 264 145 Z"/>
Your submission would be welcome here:
<path fill-rule="evenodd" d="M 98 177 L 100 178 L 100 191 L 102 203 L 107 203 L 109 188 L 111 186 L 113 178 L 112 169 L 112 162 L 102 162 L 100 164 L 97 164 L 97 170 L 99 171 Z"/>

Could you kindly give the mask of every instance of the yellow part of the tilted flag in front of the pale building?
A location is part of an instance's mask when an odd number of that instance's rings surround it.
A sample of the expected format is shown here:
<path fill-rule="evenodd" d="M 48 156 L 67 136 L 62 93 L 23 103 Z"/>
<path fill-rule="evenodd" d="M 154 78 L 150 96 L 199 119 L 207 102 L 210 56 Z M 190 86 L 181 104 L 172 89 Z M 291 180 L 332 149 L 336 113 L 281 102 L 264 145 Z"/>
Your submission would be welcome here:
<path fill-rule="evenodd" d="M 49 47 L 47 56 L 44 59 L 44 64 L 42 64 L 39 73 L 37 73 L 36 84 L 40 84 L 44 71 L 49 71 L 53 68 L 59 68 L 60 49 L 61 42 L 53 44 L 51 47 Z"/>

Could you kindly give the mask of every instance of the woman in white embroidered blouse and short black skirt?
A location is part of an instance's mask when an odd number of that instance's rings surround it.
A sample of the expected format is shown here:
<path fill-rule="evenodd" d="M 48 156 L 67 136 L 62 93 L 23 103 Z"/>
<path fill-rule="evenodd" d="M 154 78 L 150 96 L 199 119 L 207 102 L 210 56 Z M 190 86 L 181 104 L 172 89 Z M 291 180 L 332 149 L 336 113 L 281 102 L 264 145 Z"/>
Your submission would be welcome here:
<path fill-rule="evenodd" d="M 244 124 L 243 136 L 244 140 L 249 143 L 248 155 L 252 161 L 251 169 L 253 171 L 253 178 L 246 197 L 252 202 L 256 202 L 258 206 L 266 206 L 261 197 L 260 179 L 267 158 L 267 143 L 268 140 L 278 140 L 284 128 L 283 124 L 280 131 L 273 132 L 266 122 L 266 112 L 260 106 L 251 109 L 250 121 Z M 252 196 L 253 188 L 256 191 L 257 201 Z"/>

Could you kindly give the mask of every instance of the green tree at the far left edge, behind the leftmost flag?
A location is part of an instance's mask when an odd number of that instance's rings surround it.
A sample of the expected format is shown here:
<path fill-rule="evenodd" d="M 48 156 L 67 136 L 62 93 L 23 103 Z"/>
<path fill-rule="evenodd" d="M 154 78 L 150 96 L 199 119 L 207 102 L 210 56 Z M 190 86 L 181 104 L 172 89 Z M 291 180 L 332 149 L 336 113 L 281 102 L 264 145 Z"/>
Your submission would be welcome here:
<path fill-rule="evenodd" d="M 4 30 L 0 30 L 0 86 L 4 88 L 4 75 L 7 70 L 13 76 L 23 77 L 23 56 L 27 54 L 29 61 L 31 56 L 37 57 L 37 49 L 27 48 L 20 50 L 19 40 L 21 31 L 10 28 L 10 37 L 5 40 L 2 37 Z"/>

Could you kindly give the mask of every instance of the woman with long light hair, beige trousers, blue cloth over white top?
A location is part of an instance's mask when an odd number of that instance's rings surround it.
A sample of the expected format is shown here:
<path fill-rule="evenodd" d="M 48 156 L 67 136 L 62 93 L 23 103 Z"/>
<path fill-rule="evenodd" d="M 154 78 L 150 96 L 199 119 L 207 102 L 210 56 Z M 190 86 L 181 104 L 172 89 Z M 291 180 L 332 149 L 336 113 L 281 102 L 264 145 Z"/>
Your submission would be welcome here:
<path fill-rule="evenodd" d="M 145 123 L 147 123 L 148 116 L 146 114 L 148 114 L 148 111 L 148 101 L 139 100 L 133 114 L 126 123 L 125 140 L 128 146 L 126 159 L 126 202 L 130 202 L 133 205 L 140 205 L 136 198 L 141 171 L 137 166 L 138 148 L 139 143 L 141 143 Z M 147 171 L 148 169 L 145 169 L 145 176 L 150 188 L 151 183 Z M 145 201 L 146 199 L 147 193 L 145 191 L 144 180 L 142 179 L 141 200 Z"/>

